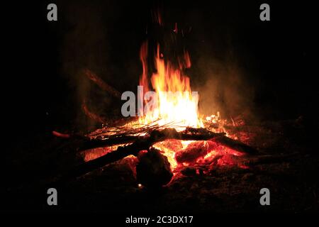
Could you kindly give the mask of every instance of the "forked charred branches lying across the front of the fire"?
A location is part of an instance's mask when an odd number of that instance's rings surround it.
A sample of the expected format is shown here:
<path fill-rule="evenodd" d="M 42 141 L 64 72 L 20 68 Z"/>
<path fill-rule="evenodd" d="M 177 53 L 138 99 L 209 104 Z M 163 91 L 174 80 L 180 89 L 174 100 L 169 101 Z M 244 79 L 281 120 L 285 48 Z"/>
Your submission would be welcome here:
<path fill-rule="evenodd" d="M 207 131 L 203 128 L 186 128 L 186 130 L 177 132 L 174 128 L 165 128 L 164 130 L 154 130 L 151 131 L 149 134 L 144 136 L 131 136 L 131 135 L 121 135 L 119 137 L 112 137 L 106 140 L 89 140 L 85 141 L 85 148 L 89 149 L 96 148 L 97 145 L 100 147 L 118 143 L 121 141 L 130 141 L 126 142 L 128 144 L 119 146 L 116 150 L 113 150 L 111 153 L 106 153 L 101 157 L 98 157 L 94 160 L 90 160 L 89 162 L 84 162 L 82 165 L 75 167 L 72 170 L 67 171 L 65 175 L 62 175 L 62 179 L 69 179 L 72 177 L 79 177 L 92 170 L 96 170 L 99 167 L 103 167 L 111 162 L 115 162 L 120 160 L 123 157 L 128 155 L 135 155 L 138 156 L 140 150 L 150 150 L 151 146 L 155 143 L 168 140 L 168 139 L 177 139 L 177 140 L 212 140 L 215 138 L 223 138 L 225 137 L 225 133 L 213 133 L 211 131 Z M 235 146 L 240 148 L 241 150 L 245 150 L 247 148 L 248 153 L 251 153 L 252 150 L 255 151 L 253 148 L 249 146 L 237 142 L 236 143 L 229 139 L 229 140 L 216 140 L 222 141 L 223 144 L 228 144 L 228 146 L 232 147 Z M 229 142 L 229 143 L 228 143 Z M 248 149 L 249 148 L 249 149 Z"/>

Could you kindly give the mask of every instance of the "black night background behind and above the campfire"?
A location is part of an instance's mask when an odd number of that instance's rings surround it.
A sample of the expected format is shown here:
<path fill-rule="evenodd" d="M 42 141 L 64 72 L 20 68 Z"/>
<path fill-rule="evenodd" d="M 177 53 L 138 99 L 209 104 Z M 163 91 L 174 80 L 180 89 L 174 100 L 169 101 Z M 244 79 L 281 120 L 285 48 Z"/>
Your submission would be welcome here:
<path fill-rule="evenodd" d="M 57 22 L 46 18 L 46 6 L 52 2 L 58 7 Z M 271 21 L 259 20 L 264 2 L 270 5 Z M 240 69 L 241 88 L 235 91 L 242 91 L 240 100 L 249 98 L 247 106 L 259 120 L 303 116 L 310 128 L 318 126 L 313 1 L 15 1 L 1 4 L 6 165 L 19 160 L 11 153 L 13 146 L 23 153 L 41 142 L 39 135 L 89 130 L 91 122 L 81 111 L 82 94 L 94 97 L 94 106 L 107 94 L 94 92 L 99 88 L 93 85 L 87 89 L 80 70 L 94 70 L 121 92 L 136 89 L 142 72 L 140 45 L 148 37 L 150 11 L 158 5 L 167 26 L 177 21 L 192 28 L 184 44 L 196 86 L 210 79 L 202 67 L 206 62 L 218 62 L 212 68 L 221 72 L 229 63 Z M 225 106 L 231 111 L 232 105 Z M 8 170 L 4 179 L 11 184 L 21 174 Z M 36 180 L 36 175 L 30 178 Z"/>

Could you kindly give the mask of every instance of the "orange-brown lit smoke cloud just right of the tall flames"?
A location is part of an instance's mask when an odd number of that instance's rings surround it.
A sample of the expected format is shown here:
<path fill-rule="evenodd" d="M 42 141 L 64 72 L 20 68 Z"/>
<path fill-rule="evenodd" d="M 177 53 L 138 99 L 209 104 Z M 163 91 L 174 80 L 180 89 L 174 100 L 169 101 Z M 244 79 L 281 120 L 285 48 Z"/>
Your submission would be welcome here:
<path fill-rule="evenodd" d="M 198 87 L 201 114 L 220 111 L 223 118 L 253 117 L 254 86 L 237 62 L 201 57 L 198 68 L 204 82 Z"/>

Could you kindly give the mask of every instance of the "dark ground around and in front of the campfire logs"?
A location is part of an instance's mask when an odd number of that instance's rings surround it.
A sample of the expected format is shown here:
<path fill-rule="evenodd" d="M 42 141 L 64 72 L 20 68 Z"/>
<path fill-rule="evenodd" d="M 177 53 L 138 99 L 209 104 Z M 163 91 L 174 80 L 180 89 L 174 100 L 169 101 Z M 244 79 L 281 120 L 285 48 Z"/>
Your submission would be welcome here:
<path fill-rule="evenodd" d="M 65 140 L 50 132 L 21 136 L 11 144 L 4 177 L 6 211 L 52 211 L 47 188 L 57 187 L 54 211 L 180 212 L 312 212 L 318 211 L 319 156 L 313 121 L 303 117 L 243 126 L 246 141 L 262 155 L 248 169 L 220 167 L 209 175 L 189 172 L 162 189 L 139 187 L 127 160 L 113 162 L 64 184 L 52 182 L 62 170 L 82 162 Z M 289 156 L 291 155 L 291 156 Z M 271 205 L 259 204 L 259 190 L 268 188 Z"/>

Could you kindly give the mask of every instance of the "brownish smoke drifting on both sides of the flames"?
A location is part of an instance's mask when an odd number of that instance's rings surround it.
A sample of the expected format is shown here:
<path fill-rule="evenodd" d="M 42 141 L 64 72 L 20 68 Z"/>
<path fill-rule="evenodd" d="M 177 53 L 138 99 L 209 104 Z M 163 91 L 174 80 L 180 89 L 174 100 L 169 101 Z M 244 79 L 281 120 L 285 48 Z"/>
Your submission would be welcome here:
<path fill-rule="evenodd" d="M 84 70 L 91 70 L 118 92 L 135 92 L 142 73 L 138 56 L 140 45 L 152 33 L 147 27 L 150 8 L 138 5 L 130 9 L 134 4 L 118 1 L 61 1 L 57 4 L 58 9 L 62 9 L 58 20 L 63 21 L 61 72 L 73 94 L 71 100 L 79 128 L 89 128 L 95 123 L 81 109 L 84 100 L 90 111 L 103 118 L 121 116 L 121 100 L 92 83 Z M 188 50 L 191 57 L 192 66 L 187 74 L 191 77 L 192 90 L 200 96 L 201 114 L 220 111 L 222 117 L 228 118 L 252 112 L 252 74 L 247 73 L 249 67 L 242 67 L 242 62 L 249 59 L 240 59 L 242 55 L 234 51 L 236 44 L 231 38 L 237 34 L 236 29 L 224 31 L 229 26 L 225 20 L 224 24 L 216 20 L 220 16 L 218 11 L 209 20 L 203 16 L 202 9 L 183 9 L 176 13 L 171 7 L 165 12 L 165 25 L 171 24 L 174 28 L 177 22 L 179 31 L 184 28 L 183 35 L 179 32 L 182 36 L 179 43 L 181 50 Z M 185 18 L 184 14 L 189 16 Z M 167 30 L 172 38 L 171 27 Z M 167 39 L 164 41 L 167 44 Z M 173 50 L 170 46 L 169 49 Z"/>

